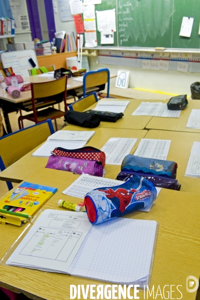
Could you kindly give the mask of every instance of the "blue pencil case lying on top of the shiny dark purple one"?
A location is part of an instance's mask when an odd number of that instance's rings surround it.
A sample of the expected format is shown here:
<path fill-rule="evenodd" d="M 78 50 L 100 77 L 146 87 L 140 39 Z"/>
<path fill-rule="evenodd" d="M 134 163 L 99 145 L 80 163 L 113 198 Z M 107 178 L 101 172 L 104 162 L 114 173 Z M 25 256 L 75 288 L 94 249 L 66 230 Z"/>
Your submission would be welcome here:
<path fill-rule="evenodd" d="M 128 154 L 123 158 L 121 171 L 158 175 L 167 178 L 176 177 L 177 163 L 170 160 L 146 158 Z"/>

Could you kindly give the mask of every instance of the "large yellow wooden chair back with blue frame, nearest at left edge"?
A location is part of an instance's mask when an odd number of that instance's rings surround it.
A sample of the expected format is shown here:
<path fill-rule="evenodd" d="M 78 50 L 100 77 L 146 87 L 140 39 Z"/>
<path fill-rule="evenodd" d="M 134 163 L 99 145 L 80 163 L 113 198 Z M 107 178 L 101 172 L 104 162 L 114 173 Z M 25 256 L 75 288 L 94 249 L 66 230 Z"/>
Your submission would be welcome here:
<path fill-rule="evenodd" d="M 51 119 L 0 137 L 0 170 L 14 163 L 54 133 Z M 28 165 L 27 165 L 28 167 Z M 18 181 L 16 181 L 18 182 Z M 6 182 L 10 190 L 11 182 Z"/>

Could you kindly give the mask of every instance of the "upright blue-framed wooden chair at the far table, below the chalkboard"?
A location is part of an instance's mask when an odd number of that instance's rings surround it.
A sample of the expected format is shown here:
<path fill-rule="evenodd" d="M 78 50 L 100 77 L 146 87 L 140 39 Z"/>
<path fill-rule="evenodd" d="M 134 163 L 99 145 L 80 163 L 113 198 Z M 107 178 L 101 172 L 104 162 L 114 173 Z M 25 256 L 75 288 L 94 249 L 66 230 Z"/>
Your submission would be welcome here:
<path fill-rule="evenodd" d="M 95 71 L 88 71 L 83 76 L 83 97 L 89 92 L 90 88 L 95 88 L 95 91 L 100 91 L 105 88 L 107 83 L 107 95 L 109 98 L 109 70 L 108 68 L 102 68 Z"/>

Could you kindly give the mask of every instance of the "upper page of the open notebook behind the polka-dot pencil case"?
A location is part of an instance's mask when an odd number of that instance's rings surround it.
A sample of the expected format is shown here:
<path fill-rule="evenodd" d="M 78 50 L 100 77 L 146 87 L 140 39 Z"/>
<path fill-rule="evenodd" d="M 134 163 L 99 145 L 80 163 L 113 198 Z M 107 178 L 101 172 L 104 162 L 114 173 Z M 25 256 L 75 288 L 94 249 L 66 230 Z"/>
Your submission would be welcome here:
<path fill-rule="evenodd" d="M 95 131 L 57 130 L 55 133 L 48 136 L 47 140 L 88 141 L 94 133 Z"/>

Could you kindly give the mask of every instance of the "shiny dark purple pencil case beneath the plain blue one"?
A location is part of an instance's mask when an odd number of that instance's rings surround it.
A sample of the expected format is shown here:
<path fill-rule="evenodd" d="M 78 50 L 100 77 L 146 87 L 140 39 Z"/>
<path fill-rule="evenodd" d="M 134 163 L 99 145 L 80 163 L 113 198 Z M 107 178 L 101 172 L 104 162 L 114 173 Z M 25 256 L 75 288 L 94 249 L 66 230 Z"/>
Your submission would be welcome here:
<path fill-rule="evenodd" d="M 157 187 L 163 187 L 163 188 L 169 188 L 169 189 L 174 189 L 174 190 L 180 190 L 181 184 L 178 183 L 176 179 L 173 178 L 166 178 L 158 175 L 150 175 L 150 174 L 140 174 L 136 172 L 119 172 L 116 179 L 117 180 L 122 180 L 122 181 L 127 181 L 131 177 L 139 175 L 144 177 L 145 179 L 149 180 L 150 182 L 153 183 L 153 185 Z"/>

